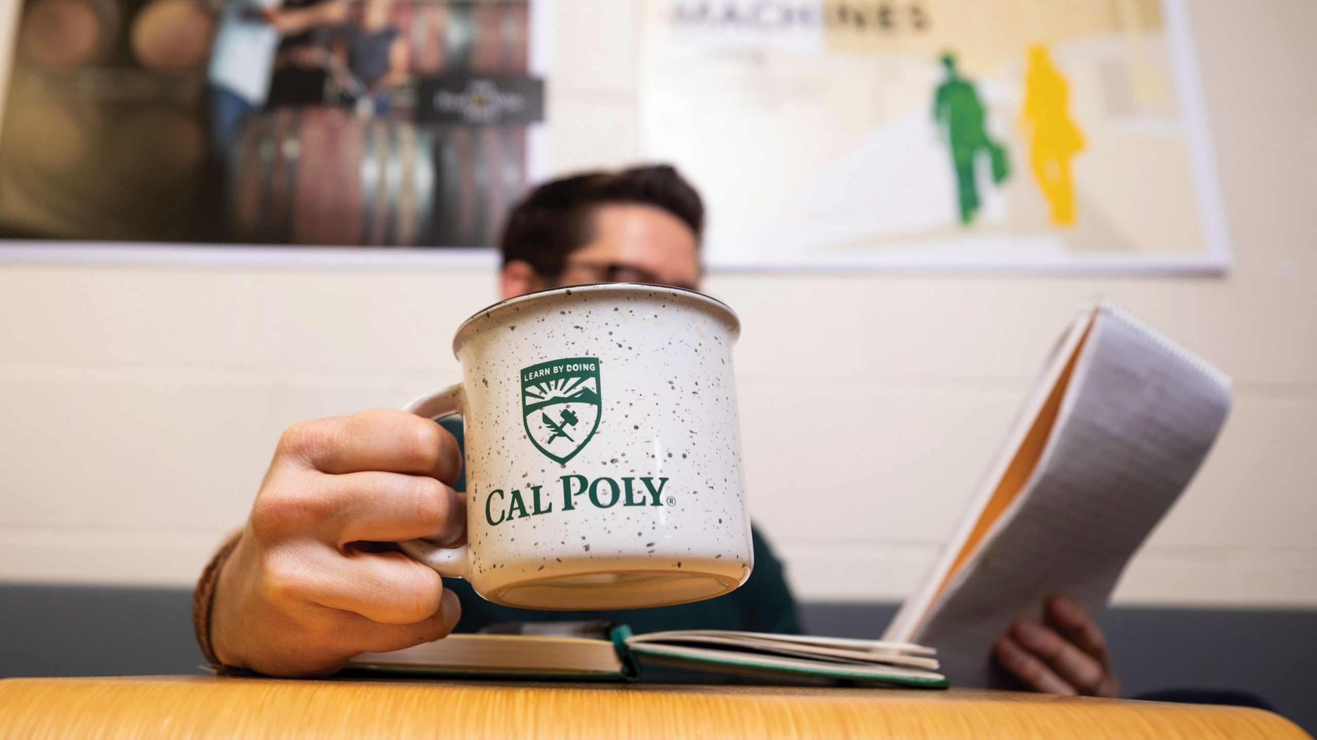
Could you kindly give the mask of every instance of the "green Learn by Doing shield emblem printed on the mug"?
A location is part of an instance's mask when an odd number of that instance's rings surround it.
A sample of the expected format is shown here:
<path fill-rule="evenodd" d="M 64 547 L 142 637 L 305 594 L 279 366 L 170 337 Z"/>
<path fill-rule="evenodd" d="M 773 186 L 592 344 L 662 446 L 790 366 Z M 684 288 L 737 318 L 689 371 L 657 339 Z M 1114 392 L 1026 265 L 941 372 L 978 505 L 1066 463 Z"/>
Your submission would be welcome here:
<path fill-rule="evenodd" d="M 522 369 L 525 436 L 553 462 L 585 449 L 599 413 L 599 358 L 568 357 Z"/>

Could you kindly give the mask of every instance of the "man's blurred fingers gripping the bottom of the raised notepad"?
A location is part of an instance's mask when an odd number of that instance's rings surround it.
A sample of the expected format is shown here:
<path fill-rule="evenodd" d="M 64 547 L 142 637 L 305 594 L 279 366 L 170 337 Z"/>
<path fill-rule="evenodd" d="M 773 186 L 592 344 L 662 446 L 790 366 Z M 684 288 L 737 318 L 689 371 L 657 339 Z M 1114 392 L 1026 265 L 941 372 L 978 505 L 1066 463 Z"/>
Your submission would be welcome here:
<path fill-rule="evenodd" d="M 997 640 L 994 653 L 1006 670 L 1047 694 L 1119 695 L 1102 631 L 1079 604 L 1052 596 L 1046 623 L 1017 621 Z"/>

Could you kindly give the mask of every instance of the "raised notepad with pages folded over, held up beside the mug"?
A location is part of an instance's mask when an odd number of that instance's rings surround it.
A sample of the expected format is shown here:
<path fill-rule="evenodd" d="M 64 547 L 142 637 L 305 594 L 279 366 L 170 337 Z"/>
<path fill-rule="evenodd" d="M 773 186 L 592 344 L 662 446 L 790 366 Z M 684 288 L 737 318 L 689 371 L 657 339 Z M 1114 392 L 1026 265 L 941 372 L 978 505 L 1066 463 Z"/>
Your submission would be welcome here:
<path fill-rule="evenodd" d="M 1230 378 L 1109 302 L 1035 382 L 951 541 L 885 640 L 938 649 L 959 686 L 1002 686 L 993 643 L 1050 594 L 1097 615 L 1202 463 Z"/>

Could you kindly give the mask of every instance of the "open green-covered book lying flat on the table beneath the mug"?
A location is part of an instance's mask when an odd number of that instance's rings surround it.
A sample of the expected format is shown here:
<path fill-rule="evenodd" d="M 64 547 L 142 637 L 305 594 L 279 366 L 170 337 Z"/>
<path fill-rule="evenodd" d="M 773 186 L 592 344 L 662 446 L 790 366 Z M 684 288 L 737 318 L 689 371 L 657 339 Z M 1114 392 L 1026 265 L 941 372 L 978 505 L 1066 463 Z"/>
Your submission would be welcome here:
<path fill-rule="evenodd" d="M 449 635 L 349 669 L 462 677 L 639 681 L 644 668 L 752 674 L 799 682 L 880 682 L 946 689 L 934 650 L 918 645 L 760 632 L 691 629 L 632 635 L 606 621 L 524 623 L 520 633 Z"/>

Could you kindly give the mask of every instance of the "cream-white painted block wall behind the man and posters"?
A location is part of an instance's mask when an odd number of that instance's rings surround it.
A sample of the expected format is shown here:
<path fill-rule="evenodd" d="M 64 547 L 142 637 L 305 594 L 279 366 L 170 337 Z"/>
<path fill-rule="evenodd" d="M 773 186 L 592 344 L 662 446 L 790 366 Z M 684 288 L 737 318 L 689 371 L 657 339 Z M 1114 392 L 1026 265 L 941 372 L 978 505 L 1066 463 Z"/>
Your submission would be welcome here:
<path fill-rule="evenodd" d="M 558 171 L 631 162 L 635 13 L 557 0 Z M 1122 602 L 1317 606 L 1317 4 L 1191 3 L 1220 279 L 712 275 L 751 507 L 811 599 L 900 599 L 1063 324 L 1102 291 L 1234 375 Z M 453 381 L 483 271 L 0 266 L 0 579 L 186 585 L 287 424 Z"/>

